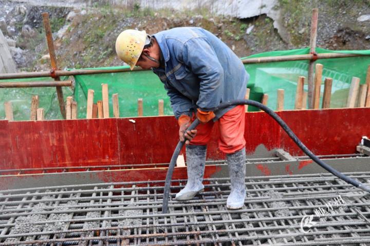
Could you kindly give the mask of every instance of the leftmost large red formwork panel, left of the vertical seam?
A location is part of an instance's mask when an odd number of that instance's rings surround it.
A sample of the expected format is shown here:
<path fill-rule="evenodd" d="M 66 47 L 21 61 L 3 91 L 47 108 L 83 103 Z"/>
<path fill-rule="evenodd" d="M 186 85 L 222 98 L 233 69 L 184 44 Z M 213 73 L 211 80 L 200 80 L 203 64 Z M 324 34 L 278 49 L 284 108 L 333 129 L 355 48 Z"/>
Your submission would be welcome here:
<path fill-rule="evenodd" d="M 14 121 L 13 168 L 118 163 L 117 120 Z"/>

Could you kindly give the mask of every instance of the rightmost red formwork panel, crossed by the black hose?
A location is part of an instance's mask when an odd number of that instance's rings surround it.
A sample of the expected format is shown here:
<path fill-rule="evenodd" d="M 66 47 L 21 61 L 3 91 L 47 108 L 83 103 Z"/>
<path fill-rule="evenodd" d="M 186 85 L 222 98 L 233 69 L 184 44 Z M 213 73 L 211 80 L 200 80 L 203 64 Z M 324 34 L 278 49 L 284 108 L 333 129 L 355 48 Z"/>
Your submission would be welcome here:
<path fill-rule="evenodd" d="M 362 136 L 370 137 L 370 108 L 282 111 L 281 117 L 314 154 L 356 153 Z M 303 155 L 293 140 L 281 130 L 281 148 Z"/>

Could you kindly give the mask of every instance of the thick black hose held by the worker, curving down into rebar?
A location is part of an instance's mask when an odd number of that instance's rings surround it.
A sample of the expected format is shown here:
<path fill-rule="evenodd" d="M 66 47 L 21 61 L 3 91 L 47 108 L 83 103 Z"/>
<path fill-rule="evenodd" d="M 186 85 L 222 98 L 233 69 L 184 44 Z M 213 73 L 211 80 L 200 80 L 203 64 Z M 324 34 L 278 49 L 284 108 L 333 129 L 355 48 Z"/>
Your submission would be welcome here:
<path fill-rule="evenodd" d="M 370 188 L 366 186 L 364 183 L 361 183 L 360 181 L 357 181 L 355 179 L 352 179 L 343 173 L 339 172 L 338 170 L 330 167 L 327 165 L 324 161 L 319 159 L 315 154 L 313 154 L 303 143 L 302 141 L 290 130 L 288 125 L 284 122 L 282 118 L 278 114 L 276 114 L 273 110 L 269 109 L 265 105 L 258 103 L 257 101 L 253 100 L 246 100 L 246 99 L 238 99 L 238 100 L 232 100 L 227 103 L 222 103 L 218 107 L 214 108 L 213 111 L 218 111 L 220 109 L 224 109 L 230 106 L 235 106 L 235 105 L 250 105 L 254 106 L 256 108 L 262 109 L 265 111 L 268 115 L 270 115 L 276 122 L 279 123 L 279 125 L 284 129 L 284 131 L 289 135 L 289 137 L 295 142 L 295 144 L 298 145 L 298 147 L 301 148 L 301 150 L 308 155 L 313 161 L 318 163 L 322 168 L 324 168 L 326 171 L 330 172 L 331 174 L 337 176 L 338 178 L 342 179 L 343 181 L 346 181 L 350 185 L 353 185 L 354 187 L 357 187 L 363 191 L 366 191 L 370 193 Z M 193 130 L 196 126 L 198 126 L 199 120 L 196 119 L 194 122 L 191 124 L 191 126 L 188 128 L 188 130 Z M 188 131 L 187 130 L 187 131 Z M 164 183 L 164 192 L 163 192 L 163 205 L 162 205 L 162 213 L 167 214 L 168 212 L 168 200 L 169 200 L 169 194 L 170 194 L 170 183 L 172 179 L 172 173 L 174 170 L 174 167 L 176 165 L 176 160 L 178 157 L 178 154 L 180 153 L 180 150 L 182 146 L 184 145 L 184 142 L 179 141 L 177 144 L 177 147 L 175 149 L 175 152 L 172 155 L 171 162 L 169 165 L 169 169 L 167 171 L 165 183 Z"/>

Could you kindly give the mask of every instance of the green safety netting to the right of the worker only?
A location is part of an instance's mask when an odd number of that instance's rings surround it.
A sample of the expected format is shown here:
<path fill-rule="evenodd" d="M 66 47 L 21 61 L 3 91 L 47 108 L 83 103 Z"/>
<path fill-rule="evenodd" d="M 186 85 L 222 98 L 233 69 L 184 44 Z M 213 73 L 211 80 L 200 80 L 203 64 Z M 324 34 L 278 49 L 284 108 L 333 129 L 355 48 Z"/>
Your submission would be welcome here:
<path fill-rule="evenodd" d="M 318 59 L 316 63 L 322 64 L 321 100 L 324 92 L 324 81 L 326 77 L 333 79 L 331 88 L 331 108 L 343 108 L 346 106 L 349 87 L 352 77 L 359 77 L 360 84 L 365 83 L 367 67 L 370 64 L 370 50 L 331 51 L 316 48 L 317 53 L 347 53 L 363 54 L 366 56 Z M 309 48 L 289 51 L 272 51 L 251 55 L 245 58 L 303 55 L 309 54 Z M 242 58 L 243 59 L 243 58 Z M 284 109 L 294 109 L 295 91 L 299 76 L 305 76 L 304 90 L 307 88 L 309 60 L 281 61 L 274 63 L 247 64 L 246 70 L 250 74 L 248 87 L 251 93 L 256 91 L 268 94 L 267 106 L 276 109 L 277 90 L 284 89 Z M 261 98 L 261 97 L 260 97 Z M 321 107 L 322 101 L 320 101 Z M 252 107 L 251 107 L 252 108 Z M 255 110 L 255 109 L 251 109 Z"/>

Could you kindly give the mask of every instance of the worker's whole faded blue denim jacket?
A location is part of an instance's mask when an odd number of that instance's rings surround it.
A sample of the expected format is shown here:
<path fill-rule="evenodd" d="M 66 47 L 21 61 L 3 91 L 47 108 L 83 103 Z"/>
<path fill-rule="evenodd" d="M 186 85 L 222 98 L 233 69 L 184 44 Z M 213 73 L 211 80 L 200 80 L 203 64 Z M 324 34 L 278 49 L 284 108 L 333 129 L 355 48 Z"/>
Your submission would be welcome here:
<path fill-rule="evenodd" d="M 212 110 L 220 103 L 244 99 L 249 74 L 234 52 L 212 33 L 179 27 L 153 35 L 165 68 L 153 68 L 167 94 L 175 117 L 191 116 L 196 108 Z M 233 107 L 215 112 L 220 118 Z"/>

